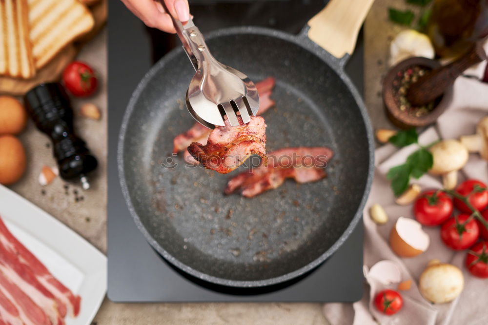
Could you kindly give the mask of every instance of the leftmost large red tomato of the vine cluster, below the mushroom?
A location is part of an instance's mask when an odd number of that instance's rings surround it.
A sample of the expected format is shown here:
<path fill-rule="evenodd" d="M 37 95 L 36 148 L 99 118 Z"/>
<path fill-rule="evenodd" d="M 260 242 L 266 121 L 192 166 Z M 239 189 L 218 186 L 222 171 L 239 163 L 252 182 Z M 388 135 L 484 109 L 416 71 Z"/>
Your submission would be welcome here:
<path fill-rule="evenodd" d="M 415 219 L 424 225 L 434 226 L 445 222 L 452 214 L 452 199 L 444 192 L 427 191 L 413 204 Z"/>

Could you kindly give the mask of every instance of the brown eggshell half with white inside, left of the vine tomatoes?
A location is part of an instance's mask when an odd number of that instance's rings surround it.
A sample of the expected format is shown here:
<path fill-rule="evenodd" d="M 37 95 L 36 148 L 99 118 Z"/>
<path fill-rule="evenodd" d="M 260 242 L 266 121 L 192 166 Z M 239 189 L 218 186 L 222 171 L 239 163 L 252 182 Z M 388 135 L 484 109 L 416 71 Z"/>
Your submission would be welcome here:
<path fill-rule="evenodd" d="M 414 257 L 427 250 L 430 238 L 416 220 L 400 217 L 391 228 L 389 243 L 398 256 Z"/>

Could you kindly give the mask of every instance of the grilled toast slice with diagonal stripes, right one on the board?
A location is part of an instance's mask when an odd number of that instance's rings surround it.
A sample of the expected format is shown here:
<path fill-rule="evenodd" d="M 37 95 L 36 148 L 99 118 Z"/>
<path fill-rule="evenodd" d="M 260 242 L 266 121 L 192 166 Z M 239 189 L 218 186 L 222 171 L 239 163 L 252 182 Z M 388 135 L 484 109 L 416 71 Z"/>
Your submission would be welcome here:
<path fill-rule="evenodd" d="M 30 40 L 38 69 L 93 28 L 93 16 L 79 0 L 28 0 L 28 3 Z"/>

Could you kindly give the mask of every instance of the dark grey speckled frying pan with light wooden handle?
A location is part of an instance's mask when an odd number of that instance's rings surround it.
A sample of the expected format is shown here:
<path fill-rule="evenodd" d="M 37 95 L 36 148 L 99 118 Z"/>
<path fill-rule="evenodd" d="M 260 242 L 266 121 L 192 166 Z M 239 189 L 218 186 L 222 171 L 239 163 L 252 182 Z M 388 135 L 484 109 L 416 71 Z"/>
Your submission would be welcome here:
<path fill-rule="evenodd" d="M 328 176 L 319 182 L 289 180 L 252 199 L 225 196 L 228 178 L 244 166 L 221 175 L 171 154 L 173 138 L 194 123 L 184 106 L 194 71 L 183 49 L 147 72 L 123 118 L 119 175 L 137 227 L 169 263 L 210 283 L 260 287 L 305 274 L 344 243 L 361 219 L 373 174 L 366 108 L 344 72 L 371 2 L 333 0 L 298 36 L 260 27 L 205 36 L 217 60 L 253 81 L 276 78 L 276 107 L 263 115 L 268 152 L 333 149 Z M 323 25 L 336 18 L 346 23 L 335 23 L 337 35 Z M 348 29 L 352 41 L 344 40 Z"/>

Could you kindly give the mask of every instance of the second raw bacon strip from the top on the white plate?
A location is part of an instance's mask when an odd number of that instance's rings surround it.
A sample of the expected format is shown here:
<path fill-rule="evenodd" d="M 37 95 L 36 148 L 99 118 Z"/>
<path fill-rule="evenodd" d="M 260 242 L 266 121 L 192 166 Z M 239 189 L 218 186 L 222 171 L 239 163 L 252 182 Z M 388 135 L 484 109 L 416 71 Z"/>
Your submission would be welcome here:
<path fill-rule="evenodd" d="M 39 305 L 52 324 L 64 324 L 66 306 L 57 300 L 36 278 L 32 270 L 22 264 L 15 253 L 10 252 L 0 241 L 0 271 L 17 284 L 22 291 Z"/>

